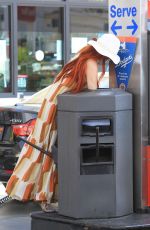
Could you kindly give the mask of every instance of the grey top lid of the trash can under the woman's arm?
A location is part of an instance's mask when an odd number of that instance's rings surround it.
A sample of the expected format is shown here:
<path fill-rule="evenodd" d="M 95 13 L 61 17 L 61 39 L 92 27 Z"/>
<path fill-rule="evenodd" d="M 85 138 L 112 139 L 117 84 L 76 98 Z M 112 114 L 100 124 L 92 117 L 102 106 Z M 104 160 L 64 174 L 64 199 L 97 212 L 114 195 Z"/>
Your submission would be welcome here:
<path fill-rule="evenodd" d="M 64 93 L 58 96 L 58 110 L 119 111 L 132 109 L 132 94 L 122 89 L 86 90 L 77 94 Z"/>

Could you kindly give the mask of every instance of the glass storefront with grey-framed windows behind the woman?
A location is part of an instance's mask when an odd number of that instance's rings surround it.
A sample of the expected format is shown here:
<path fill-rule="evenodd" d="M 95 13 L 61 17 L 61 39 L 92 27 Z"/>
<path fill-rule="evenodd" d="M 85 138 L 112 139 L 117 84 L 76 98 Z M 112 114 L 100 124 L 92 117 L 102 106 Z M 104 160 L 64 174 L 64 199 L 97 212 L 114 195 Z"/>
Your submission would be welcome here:
<path fill-rule="evenodd" d="M 0 97 L 11 102 L 51 84 L 78 49 L 108 31 L 108 2 L 0 1 L 0 22 Z"/>

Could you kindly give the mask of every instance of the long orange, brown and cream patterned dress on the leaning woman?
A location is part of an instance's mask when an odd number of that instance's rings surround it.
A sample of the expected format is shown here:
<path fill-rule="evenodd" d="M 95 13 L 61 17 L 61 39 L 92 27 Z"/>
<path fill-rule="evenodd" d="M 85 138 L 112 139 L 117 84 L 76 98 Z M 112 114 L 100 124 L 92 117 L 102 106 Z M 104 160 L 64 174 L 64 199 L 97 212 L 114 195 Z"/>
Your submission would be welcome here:
<path fill-rule="evenodd" d="M 57 138 L 57 96 L 72 91 L 75 82 L 65 78 L 49 87 L 41 105 L 35 128 L 28 141 L 51 152 Z M 6 192 L 21 201 L 36 200 L 50 203 L 57 183 L 56 165 L 52 158 L 28 144 L 24 144 Z"/>

